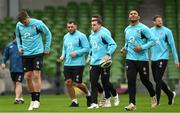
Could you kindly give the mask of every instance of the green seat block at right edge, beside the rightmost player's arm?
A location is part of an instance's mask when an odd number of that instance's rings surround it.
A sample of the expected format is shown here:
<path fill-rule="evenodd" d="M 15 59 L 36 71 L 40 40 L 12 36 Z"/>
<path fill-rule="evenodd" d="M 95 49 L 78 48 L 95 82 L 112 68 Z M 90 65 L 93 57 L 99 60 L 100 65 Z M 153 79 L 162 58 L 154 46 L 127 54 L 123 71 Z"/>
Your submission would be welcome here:
<path fill-rule="evenodd" d="M 178 2 L 178 0 L 177 0 Z M 180 27 L 179 22 L 177 21 L 178 18 L 178 12 L 179 10 L 176 10 L 177 7 L 179 7 L 178 5 L 176 5 L 176 0 L 165 0 L 165 24 L 166 26 L 168 26 L 172 32 L 173 32 L 173 36 L 174 36 L 174 41 L 177 47 L 177 51 L 178 53 L 180 53 L 180 49 L 178 48 L 178 44 L 179 39 L 178 39 L 178 27 Z M 177 13 L 176 13 L 177 11 Z M 174 85 L 178 83 L 178 80 L 180 79 L 180 71 L 178 69 L 175 68 L 174 65 L 174 60 L 172 58 L 172 55 L 170 55 L 170 59 L 168 62 L 168 68 L 167 68 L 167 74 L 168 74 L 168 79 L 169 82 L 172 84 L 171 88 L 174 89 Z"/>

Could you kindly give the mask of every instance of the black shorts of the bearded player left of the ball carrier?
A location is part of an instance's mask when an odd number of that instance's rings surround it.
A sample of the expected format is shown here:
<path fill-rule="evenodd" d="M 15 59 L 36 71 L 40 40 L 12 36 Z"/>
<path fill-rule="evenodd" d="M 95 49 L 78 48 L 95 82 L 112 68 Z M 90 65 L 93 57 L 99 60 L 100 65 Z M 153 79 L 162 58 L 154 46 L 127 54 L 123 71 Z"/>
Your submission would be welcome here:
<path fill-rule="evenodd" d="M 84 66 L 64 66 L 65 81 L 71 79 L 73 82 L 82 83 Z"/>

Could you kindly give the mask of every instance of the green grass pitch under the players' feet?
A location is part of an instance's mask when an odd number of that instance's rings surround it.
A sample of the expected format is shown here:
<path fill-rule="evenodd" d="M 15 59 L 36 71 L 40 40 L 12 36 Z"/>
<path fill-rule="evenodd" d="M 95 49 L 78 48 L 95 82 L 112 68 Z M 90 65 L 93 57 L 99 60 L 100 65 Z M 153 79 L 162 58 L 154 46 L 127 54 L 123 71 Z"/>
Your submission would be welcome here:
<path fill-rule="evenodd" d="M 118 107 L 112 106 L 111 108 L 99 108 L 99 109 L 87 109 L 85 96 L 78 96 L 78 101 L 80 107 L 78 108 L 70 108 L 70 99 L 67 95 L 41 95 L 41 106 L 39 109 L 35 109 L 31 112 L 126 112 L 124 107 L 128 104 L 128 95 L 120 95 L 120 105 Z M 22 113 L 29 112 L 28 106 L 30 103 L 30 96 L 26 95 L 25 103 L 15 105 L 14 96 L 0 96 L 0 112 L 8 112 L 8 113 Z M 113 98 L 112 105 L 113 105 Z M 180 96 L 176 97 L 174 105 L 167 105 L 167 97 L 164 95 L 161 97 L 161 105 L 151 109 L 150 108 L 150 97 L 148 95 L 137 95 L 137 110 L 134 112 L 180 112 Z M 131 113 L 131 112 L 127 112 Z"/>

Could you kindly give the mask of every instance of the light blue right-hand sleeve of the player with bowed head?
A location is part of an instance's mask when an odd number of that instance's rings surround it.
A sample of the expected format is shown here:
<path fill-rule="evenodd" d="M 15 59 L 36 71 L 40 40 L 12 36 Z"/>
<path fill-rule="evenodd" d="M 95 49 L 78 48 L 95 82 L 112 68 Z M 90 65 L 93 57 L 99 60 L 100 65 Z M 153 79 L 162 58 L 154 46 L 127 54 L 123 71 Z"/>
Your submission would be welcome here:
<path fill-rule="evenodd" d="M 49 28 L 41 21 L 39 30 L 46 35 L 45 51 L 50 51 L 52 34 Z"/>

